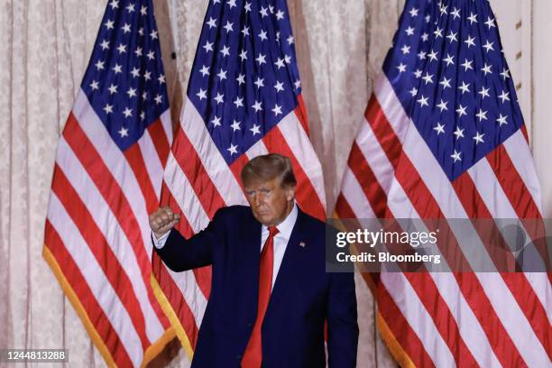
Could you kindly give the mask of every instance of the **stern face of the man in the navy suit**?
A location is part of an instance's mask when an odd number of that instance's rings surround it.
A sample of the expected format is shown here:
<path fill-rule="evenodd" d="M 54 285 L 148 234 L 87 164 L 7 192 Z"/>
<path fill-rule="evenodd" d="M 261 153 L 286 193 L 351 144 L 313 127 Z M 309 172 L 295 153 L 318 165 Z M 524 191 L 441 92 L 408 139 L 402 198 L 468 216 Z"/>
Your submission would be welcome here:
<path fill-rule="evenodd" d="M 253 181 L 244 186 L 253 216 L 262 225 L 280 224 L 293 207 L 295 188 L 282 187 L 280 181 L 280 178 Z"/>

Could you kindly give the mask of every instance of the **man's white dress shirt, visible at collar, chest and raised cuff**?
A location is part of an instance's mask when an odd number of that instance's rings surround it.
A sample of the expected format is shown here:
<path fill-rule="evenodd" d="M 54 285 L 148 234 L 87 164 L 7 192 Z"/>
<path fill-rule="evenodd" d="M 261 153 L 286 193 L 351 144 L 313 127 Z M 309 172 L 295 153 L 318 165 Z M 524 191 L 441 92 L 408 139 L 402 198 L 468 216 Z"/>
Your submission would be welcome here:
<path fill-rule="evenodd" d="M 278 229 L 278 234 L 274 236 L 274 264 L 272 265 L 272 288 L 274 288 L 274 282 L 276 281 L 276 276 L 278 276 L 278 271 L 280 271 L 281 261 L 283 260 L 284 253 L 286 253 L 286 248 L 288 246 L 288 242 L 290 241 L 291 231 L 293 230 L 293 226 L 295 226 L 295 222 L 297 221 L 298 213 L 299 211 L 297 209 L 297 204 L 294 202 L 290 215 L 288 215 L 279 225 L 276 225 L 276 228 Z M 155 245 L 157 249 L 161 249 L 167 242 L 167 238 L 169 237 L 169 234 L 170 234 L 170 231 L 161 235 L 159 239 L 156 239 L 155 235 L 152 234 L 153 245 Z M 269 235 L 268 226 L 262 225 L 261 244 L 260 244 L 259 252 L 262 251 L 262 247 L 264 246 L 264 243 L 266 242 L 268 235 Z"/>

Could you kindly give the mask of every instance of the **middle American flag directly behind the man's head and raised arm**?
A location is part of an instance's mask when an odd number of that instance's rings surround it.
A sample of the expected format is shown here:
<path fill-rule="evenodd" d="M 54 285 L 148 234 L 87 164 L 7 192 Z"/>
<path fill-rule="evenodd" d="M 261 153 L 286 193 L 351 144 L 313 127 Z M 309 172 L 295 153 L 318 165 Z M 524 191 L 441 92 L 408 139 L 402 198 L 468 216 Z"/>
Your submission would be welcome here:
<path fill-rule="evenodd" d="M 219 207 L 247 204 L 240 171 L 268 152 L 290 157 L 299 207 L 324 218 L 322 170 L 308 140 L 285 0 L 209 1 L 161 194 L 161 203 L 183 215 L 180 233 L 198 233 Z M 154 290 L 191 355 L 210 268 L 174 273 L 154 257 Z"/>

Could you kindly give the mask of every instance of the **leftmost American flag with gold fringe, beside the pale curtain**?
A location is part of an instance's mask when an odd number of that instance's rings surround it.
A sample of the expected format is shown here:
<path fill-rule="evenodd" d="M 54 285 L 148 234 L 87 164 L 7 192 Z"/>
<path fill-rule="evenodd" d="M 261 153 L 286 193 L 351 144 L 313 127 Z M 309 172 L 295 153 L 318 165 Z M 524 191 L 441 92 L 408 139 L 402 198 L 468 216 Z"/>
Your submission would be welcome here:
<path fill-rule="evenodd" d="M 111 0 L 60 136 L 43 248 L 108 365 L 148 363 L 174 337 L 148 225 L 171 141 L 152 0 Z"/>

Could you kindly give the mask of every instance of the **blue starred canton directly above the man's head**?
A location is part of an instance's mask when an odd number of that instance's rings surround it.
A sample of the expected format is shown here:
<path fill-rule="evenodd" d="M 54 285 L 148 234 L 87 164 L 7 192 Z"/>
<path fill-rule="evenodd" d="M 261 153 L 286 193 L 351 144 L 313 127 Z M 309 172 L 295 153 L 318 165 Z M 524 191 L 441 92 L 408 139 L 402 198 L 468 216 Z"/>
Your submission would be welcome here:
<path fill-rule="evenodd" d="M 299 69 L 285 0 L 212 0 L 188 97 L 231 164 L 298 106 Z"/>

